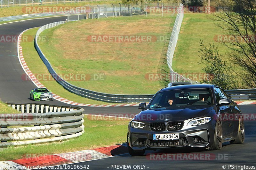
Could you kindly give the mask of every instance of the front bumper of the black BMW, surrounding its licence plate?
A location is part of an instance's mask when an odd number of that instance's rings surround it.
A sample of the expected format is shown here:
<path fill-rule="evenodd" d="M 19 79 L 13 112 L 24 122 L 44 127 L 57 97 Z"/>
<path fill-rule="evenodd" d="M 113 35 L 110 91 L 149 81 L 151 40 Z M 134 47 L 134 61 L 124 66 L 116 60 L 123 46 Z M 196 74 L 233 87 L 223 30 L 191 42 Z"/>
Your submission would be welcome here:
<path fill-rule="evenodd" d="M 192 147 L 192 148 L 207 148 L 210 147 L 214 140 L 215 121 L 191 126 L 187 125 L 185 121 L 184 126 L 180 130 L 175 131 L 152 131 L 149 127 L 146 129 L 137 129 L 128 126 L 127 139 L 128 144 L 133 150 L 156 150 L 163 148 L 174 147 Z M 179 140 L 153 140 L 153 134 L 169 134 L 179 133 Z"/>

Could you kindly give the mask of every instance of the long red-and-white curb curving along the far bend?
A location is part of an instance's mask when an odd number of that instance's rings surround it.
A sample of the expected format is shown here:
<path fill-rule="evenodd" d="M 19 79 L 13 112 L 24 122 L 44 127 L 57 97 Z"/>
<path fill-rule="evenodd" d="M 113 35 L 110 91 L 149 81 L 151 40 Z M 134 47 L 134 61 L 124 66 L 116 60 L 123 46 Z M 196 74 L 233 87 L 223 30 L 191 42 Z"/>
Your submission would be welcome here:
<path fill-rule="evenodd" d="M 32 28 L 29 28 L 32 29 Z M 27 30 L 29 30 L 27 29 Z M 38 81 L 38 79 L 34 76 L 34 74 L 31 72 L 31 70 L 28 68 L 28 65 L 23 57 L 23 53 L 22 53 L 22 47 L 20 46 L 20 42 L 21 42 L 21 36 L 24 32 L 26 32 L 27 30 L 23 31 L 22 33 L 20 33 L 19 37 L 18 37 L 18 44 L 17 44 L 17 49 L 18 49 L 18 58 L 20 61 L 20 65 L 23 68 L 23 70 L 25 71 L 25 73 L 28 75 L 28 77 L 30 78 L 30 80 L 39 88 L 45 87 L 42 83 L 40 83 Z M 46 88 L 46 87 L 45 87 Z M 71 105 L 76 105 L 76 106 L 88 106 L 88 107 L 126 107 L 126 106 L 139 106 L 138 103 L 132 103 L 132 104 L 102 104 L 102 105 L 97 105 L 97 104 L 84 104 L 84 103 L 78 103 L 78 102 L 74 102 L 65 98 L 62 98 L 60 96 L 58 96 L 57 94 L 53 93 L 53 98 L 55 100 L 61 101 L 63 103 L 67 103 L 67 104 L 71 104 Z"/>

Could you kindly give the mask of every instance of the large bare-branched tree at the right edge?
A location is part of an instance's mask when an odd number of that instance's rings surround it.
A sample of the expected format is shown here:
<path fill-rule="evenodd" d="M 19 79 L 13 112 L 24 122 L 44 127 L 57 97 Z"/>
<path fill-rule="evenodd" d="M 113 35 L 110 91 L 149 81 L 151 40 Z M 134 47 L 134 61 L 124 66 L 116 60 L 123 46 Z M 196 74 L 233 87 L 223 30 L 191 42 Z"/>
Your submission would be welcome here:
<path fill-rule="evenodd" d="M 232 41 L 222 41 L 231 49 L 231 61 L 242 71 L 238 75 L 250 88 L 256 88 L 256 1 L 231 0 L 222 1 L 230 10 L 224 10 L 213 15 L 220 28 L 226 34 L 232 35 Z"/>

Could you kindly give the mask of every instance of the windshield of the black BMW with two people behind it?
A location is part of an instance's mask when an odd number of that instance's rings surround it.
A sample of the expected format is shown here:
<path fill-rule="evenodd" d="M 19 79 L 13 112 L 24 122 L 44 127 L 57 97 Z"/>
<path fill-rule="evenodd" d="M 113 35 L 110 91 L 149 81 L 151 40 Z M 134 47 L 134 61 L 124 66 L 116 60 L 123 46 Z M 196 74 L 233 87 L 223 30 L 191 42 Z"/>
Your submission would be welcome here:
<path fill-rule="evenodd" d="M 159 92 L 156 94 L 149 108 L 174 106 L 212 105 L 212 94 L 206 89 L 181 89 Z"/>

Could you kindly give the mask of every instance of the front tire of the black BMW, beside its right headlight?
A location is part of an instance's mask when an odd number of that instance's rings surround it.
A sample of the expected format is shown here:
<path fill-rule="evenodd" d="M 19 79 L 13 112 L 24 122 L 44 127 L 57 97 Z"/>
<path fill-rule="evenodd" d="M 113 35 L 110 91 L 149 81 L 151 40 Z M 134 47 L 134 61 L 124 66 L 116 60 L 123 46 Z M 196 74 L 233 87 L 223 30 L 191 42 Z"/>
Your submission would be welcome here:
<path fill-rule="evenodd" d="M 222 126 L 219 120 L 216 122 L 214 130 L 214 141 L 210 150 L 220 150 L 222 147 Z"/>

